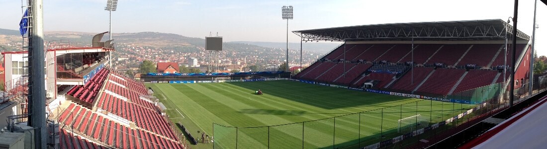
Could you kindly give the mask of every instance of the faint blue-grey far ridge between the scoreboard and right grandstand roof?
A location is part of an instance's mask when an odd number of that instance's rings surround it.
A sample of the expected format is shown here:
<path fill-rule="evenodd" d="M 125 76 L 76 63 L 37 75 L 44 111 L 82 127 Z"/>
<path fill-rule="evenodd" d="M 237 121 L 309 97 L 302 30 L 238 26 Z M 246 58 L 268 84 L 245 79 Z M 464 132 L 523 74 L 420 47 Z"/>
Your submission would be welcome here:
<path fill-rule="evenodd" d="M 263 47 L 280 48 L 285 49 L 287 43 L 274 43 L 274 42 L 257 42 L 257 41 L 232 41 L 230 43 L 244 43 L 252 44 Z M 339 46 L 340 43 L 302 43 L 302 49 L 307 51 L 313 51 L 318 53 L 327 53 Z M 300 50 L 300 43 L 289 43 L 289 49 Z"/>

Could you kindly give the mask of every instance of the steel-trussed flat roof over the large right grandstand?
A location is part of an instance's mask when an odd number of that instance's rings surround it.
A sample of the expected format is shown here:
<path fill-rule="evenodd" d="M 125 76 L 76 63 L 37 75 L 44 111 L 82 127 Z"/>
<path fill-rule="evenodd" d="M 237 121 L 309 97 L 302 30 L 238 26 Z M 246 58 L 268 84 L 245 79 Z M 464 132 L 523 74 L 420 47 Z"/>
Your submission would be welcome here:
<path fill-rule="evenodd" d="M 388 23 L 293 31 L 303 41 L 505 40 L 513 26 L 501 19 Z M 517 40 L 530 37 L 517 30 Z"/>

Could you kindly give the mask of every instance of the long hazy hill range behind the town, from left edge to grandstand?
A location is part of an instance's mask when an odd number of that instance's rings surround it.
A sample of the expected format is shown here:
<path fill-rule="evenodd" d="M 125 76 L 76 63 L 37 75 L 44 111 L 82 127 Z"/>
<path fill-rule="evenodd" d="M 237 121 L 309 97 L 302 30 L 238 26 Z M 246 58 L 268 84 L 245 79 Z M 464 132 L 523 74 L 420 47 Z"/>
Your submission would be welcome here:
<path fill-rule="evenodd" d="M 44 41 L 55 41 L 56 43 L 71 42 L 71 45 L 77 44 L 77 46 L 91 46 L 91 39 L 97 33 L 85 33 L 85 32 L 69 32 L 69 31 L 48 31 L 44 32 Z M 102 41 L 109 40 L 108 34 L 105 34 Z M 0 46 L 5 47 L 8 51 L 14 51 L 19 49 L 21 42 L 21 35 L 19 31 L 10 30 L 10 29 L 1 29 L 0 30 Z M 205 49 L 205 39 L 202 38 L 192 38 L 185 37 L 183 35 L 171 34 L 171 33 L 158 33 L 158 32 L 139 32 L 139 33 L 115 33 L 113 34 L 113 43 L 117 46 L 117 51 L 121 53 L 132 54 L 132 51 L 124 50 L 123 47 L 130 46 L 141 46 L 145 48 L 152 49 L 162 49 L 166 51 L 182 52 L 182 53 L 200 53 L 203 52 L 202 49 Z M 257 42 L 257 44 L 262 43 L 263 45 L 266 42 Z M 336 44 L 322 44 L 314 43 L 317 46 L 310 44 L 310 46 L 305 45 L 304 57 L 306 59 L 316 59 L 318 55 L 322 55 L 326 52 L 319 52 L 321 49 L 323 51 L 329 51 L 333 49 Z M 276 45 L 276 46 L 274 46 Z M 254 43 L 236 43 L 236 42 L 227 42 L 223 44 L 223 51 L 226 54 L 226 57 L 242 58 L 242 57 L 255 57 L 258 59 L 282 59 L 284 56 L 284 45 L 283 43 L 271 43 L 269 46 L 260 46 L 255 45 Z M 291 44 L 296 47 L 300 47 L 300 44 Z M 328 46 L 327 46 L 328 45 Z M 119 47 L 119 48 L 118 48 Z M 319 48 L 321 47 L 321 48 Z M 298 48 L 300 49 L 300 48 Z M 317 50 L 319 49 L 319 50 Z M 1 51 L 1 50 L 0 50 Z M 294 58 L 298 57 L 299 50 L 293 48 L 290 51 L 290 55 Z M 116 56 L 116 55 L 114 55 Z"/>

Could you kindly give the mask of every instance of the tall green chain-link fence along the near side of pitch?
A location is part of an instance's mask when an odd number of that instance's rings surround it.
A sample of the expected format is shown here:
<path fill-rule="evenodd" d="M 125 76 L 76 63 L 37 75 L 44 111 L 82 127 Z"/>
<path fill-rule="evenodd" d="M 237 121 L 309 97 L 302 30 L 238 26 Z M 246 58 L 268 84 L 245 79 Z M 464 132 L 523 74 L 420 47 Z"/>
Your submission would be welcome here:
<path fill-rule="evenodd" d="M 532 94 L 545 91 L 536 81 Z M 528 84 L 515 89 L 514 103 L 529 98 Z M 264 127 L 213 123 L 214 148 L 383 148 L 438 142 L 469 124 L 509 107 L 505 82 L 450 96 L 430 97 L 386 108 L 306 122 Z M 443 102 L 441 102 L 443 101 Z"/>

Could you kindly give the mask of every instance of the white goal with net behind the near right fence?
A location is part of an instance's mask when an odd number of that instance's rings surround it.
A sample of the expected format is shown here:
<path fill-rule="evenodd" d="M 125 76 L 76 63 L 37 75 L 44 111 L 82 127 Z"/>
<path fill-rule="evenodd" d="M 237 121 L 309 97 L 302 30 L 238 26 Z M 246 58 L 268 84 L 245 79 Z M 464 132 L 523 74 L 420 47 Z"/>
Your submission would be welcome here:
<path fill-rule="evenodd" d="M 406 117 L 397 122 L 397 132 L 406 134 L 413 132 L 414 130 L 425 128 L 427 125 L 427 120 L 424 120 L 421 115 Z"/>

